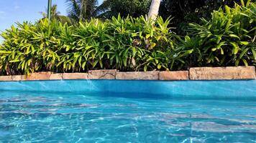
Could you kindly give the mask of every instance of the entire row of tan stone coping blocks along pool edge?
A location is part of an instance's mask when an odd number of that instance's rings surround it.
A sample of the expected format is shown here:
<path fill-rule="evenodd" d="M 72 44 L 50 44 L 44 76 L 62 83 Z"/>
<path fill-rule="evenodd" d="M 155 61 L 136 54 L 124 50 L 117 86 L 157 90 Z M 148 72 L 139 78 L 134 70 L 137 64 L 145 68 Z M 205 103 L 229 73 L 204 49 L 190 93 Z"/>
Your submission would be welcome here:
<path fill-rule="evenodd" d="M 0 76 L 1 82 L 109 79 L 109 80 L 241 80 L 256 79 L 255 66 L 193 67 L 186 71 L 118 71 L 116 69 L 91 70 L 86 73 L 36 72 L 29 75 Z"/>

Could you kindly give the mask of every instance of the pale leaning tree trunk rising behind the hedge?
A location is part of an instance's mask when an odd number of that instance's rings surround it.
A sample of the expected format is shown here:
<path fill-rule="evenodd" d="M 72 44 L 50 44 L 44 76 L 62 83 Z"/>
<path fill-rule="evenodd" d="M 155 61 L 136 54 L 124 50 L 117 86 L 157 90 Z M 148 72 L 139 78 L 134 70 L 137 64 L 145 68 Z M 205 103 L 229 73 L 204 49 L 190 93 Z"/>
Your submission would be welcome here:
<path fill-rule="evenodd" d="M 147 20 L 154 20 L 157 18 L 161 0 L 152 0 L 150 5 L 150 11 L 147 14 Z"/>

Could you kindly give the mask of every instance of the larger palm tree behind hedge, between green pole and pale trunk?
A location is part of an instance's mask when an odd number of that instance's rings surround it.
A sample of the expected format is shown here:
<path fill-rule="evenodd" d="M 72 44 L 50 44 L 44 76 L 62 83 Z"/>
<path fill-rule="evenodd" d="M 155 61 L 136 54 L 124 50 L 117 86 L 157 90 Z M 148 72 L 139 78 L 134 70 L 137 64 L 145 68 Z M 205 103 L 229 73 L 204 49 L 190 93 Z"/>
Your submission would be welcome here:
<path fill-rule="evenodd" d="M 97 0 L 67 0 L 68 16 L 76 21 L 84 21 L 93 16 Z"/>

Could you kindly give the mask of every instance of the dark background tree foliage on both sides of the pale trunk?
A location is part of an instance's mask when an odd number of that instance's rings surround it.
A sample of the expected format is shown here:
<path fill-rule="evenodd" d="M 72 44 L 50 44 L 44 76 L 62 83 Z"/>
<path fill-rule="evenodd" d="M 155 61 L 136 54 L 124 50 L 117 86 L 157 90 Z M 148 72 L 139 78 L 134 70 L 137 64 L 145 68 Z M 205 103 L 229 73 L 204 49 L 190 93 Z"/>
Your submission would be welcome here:
<path fill-rule="evenodd" d="M 245 2 L 247 0 L 244 0 Z M 255 0 L 251 0 L 255 1 Z M 224 6 L 233 7 L 240 3 L 240 0 L 162 0 L 159 15 L 163 19 L 173 17 L 173 26 L 177 27 L 174 31 L 178 34 L 186 34 L 183 29 L 188 23 L 199 23 L 200 19 L 211 18 L 211 12 Z M 111 19 L 112 16 L 121 14 L 126 16 L 145 16 L 150 8 L 150 0 L 105 0 L 100 6 L 96 7 L 93 16 L 103 19 Z"/>

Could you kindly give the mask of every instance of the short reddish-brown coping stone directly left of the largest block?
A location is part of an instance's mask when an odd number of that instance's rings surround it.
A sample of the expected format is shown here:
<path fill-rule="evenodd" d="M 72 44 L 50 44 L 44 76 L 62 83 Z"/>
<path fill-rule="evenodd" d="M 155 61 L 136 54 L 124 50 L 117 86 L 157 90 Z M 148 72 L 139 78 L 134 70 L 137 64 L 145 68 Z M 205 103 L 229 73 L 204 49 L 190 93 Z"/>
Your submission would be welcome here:
<path fill-rule="evenodd" d="M 188 80 L 188 71 L 160 71 L 160 80 Z"/>

